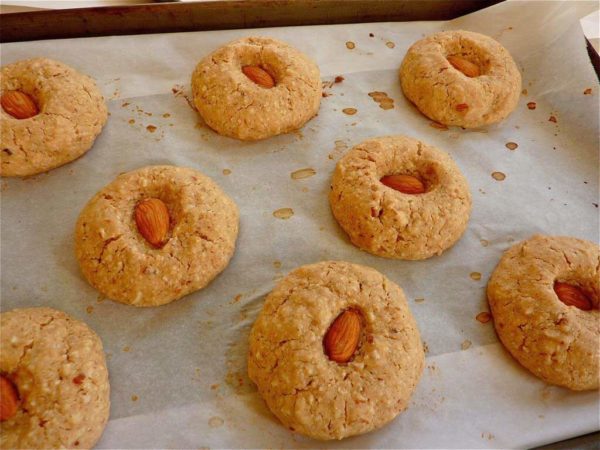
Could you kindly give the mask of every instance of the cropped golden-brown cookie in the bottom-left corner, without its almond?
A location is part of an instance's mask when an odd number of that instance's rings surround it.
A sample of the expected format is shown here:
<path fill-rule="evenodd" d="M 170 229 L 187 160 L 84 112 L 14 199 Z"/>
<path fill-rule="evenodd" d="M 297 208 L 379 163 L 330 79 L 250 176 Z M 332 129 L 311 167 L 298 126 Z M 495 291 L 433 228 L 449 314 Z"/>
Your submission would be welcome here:
<path fill-rule="evenodd" d="M 2 393 L 12 385 L 18 398 L 14 415 L 0 424 L 0 448 L 92 448 L 110 409 L 96 333 L 50 308 L 3 312 L 0 328 Z"/>

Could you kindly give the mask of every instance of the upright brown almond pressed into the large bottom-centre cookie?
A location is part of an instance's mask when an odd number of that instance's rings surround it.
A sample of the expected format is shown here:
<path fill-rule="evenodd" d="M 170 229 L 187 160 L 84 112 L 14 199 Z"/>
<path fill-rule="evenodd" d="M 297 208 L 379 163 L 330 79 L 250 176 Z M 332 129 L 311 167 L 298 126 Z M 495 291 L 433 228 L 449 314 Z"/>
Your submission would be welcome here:
<path fill-rule="evenodd" d="M 360 312 L 347 309 L 333 321 L 323 338 L 323 347 L 330 360 L 337 363 L 350 361 L 360 340 Z"/>

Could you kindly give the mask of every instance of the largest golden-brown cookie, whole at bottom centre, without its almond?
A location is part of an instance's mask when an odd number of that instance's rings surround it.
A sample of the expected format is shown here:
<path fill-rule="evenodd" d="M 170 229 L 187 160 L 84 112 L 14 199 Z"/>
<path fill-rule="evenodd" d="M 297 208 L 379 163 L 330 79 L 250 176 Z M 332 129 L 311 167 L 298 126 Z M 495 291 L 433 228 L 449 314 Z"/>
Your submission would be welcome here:
<path fill-rule="evenodd" d="M 326 353 L 326 335 L 350 310 L 360 315 L 358 348 L 338 363 Z M 347 262 L 291 272 L 269 294 L 250 333 L 250 379 L 287 428 L 316 439 L 342 439 L 390 422 L 408 406 L 423 364 L 402 289 Z"/>

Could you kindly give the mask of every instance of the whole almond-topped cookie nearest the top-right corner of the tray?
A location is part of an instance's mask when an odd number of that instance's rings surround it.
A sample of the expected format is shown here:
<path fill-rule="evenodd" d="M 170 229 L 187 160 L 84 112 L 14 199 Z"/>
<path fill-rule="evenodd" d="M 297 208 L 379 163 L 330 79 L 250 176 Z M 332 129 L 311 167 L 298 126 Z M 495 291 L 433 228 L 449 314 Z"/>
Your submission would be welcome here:
<path fill-rule="evenodd" d="M 414 43 L 402 61 L 400 82 L 427 117 L 464 128 L 500 122 L 521 94 L 521 74 L 508 50 L 489 36 L 461 30 Z"/>

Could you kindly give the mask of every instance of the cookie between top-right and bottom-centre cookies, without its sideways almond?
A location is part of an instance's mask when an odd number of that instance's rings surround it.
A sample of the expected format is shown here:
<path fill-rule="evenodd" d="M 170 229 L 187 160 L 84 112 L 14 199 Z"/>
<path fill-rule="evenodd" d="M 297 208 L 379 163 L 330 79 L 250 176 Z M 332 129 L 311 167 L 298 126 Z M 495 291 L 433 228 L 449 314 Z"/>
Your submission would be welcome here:
<path fill-rule="evenodd" d="M 417 177 L 425 192 L 404 193 L 380 181 L 394 174 Z M 354 245 L 386 258 L 441 254 L 461 237 L 471 213 L 469 186 L 450 156 L 405 136 L 370 139 L 346 153 L 329 202 Z"/>

